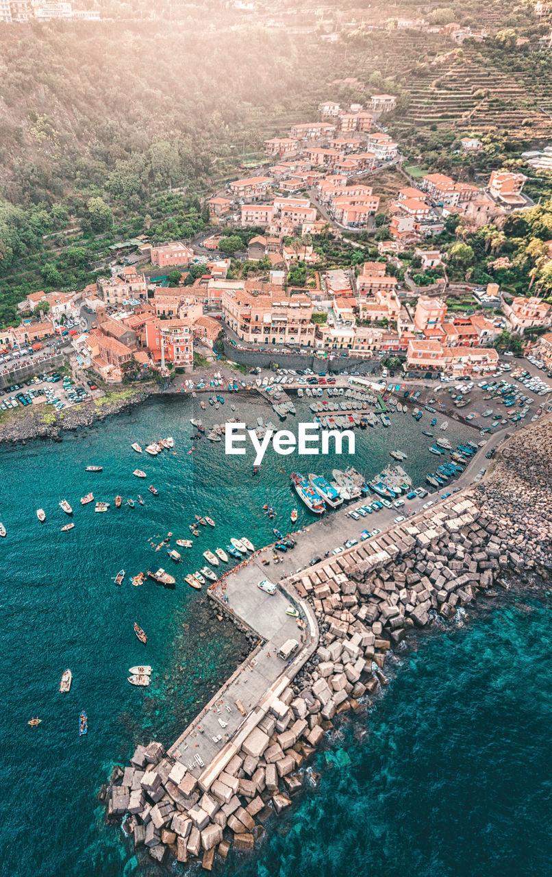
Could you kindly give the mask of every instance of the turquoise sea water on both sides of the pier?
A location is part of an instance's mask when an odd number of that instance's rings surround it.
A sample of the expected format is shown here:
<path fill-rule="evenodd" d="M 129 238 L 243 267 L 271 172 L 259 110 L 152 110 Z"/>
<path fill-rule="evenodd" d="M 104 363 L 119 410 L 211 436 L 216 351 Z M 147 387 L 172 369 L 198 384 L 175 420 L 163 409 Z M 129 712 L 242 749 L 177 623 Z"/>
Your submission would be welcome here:
<path fill-rule="evenodd" d="M 244 410 L 251 424 L 258 414 L 265 419 L 272 415 L 259 404 L 246 403 Z M 159 738 L 170 744 L 241 660 L 243 640 L 231 625 L 213 622 L 206 596 L 188 588 L 183 577 L 203 565 L 206 547 L 226 545 L 230 536 L 247 535 L 258 545 L 271 541 L 272 524 L 260 508 L 270 502 L 280 519 L 289 520 L 297 503 L 287 474 L 301 465 L 301 459 L 279 458 L 269 452 L 261 473 L 253 479 L 251 453 L 227 458 L 222 443 L 212 446 L 202 439 L 195 443 L 197 450 L 188 454 L 194 445 L 188 418 L 198 413 L 201 416 L 191 401 L 156 399 L 130 415 L 68 435 L 60 445 L 31 442 L 25 447 L 0 448 L 0 520 L 8 531 L 0 542 L 4 610 L 4 673 L 0 681 L 2 873 L 13 877 L 28 873 L 36 877 L 132 873 L 136 859 L 121 843 L 117 830 L 104 824 L 103 805 L 96 802 L 98 789 L 113 763 L 124 762 L 136 743 Z M 232 413 L 227 405 L 216 415 L 214 411 L 209 415 L 208 410 L 202 416 L 223 421 Z M 305 414 L 302 419 L 309 418 Z M 289 421 L 291 425 L 291 418 Z M 401 448 L 408 453 L 407 471 L 419 482 L 424 472 L 435 468 L 435 458 L 427 451 L 428 439 L 421 436 L 421 429 L 427 429 L 423 424 L 423 419 L 416 425 L 412 417 L 395 417 L 388 431 L 357 433 L 355 465 L 367 475 L 376 474 L 390 461 L 389 449 Z M 474 435 L 466 427 L 450 424 L 448 436 L 455 436 L 457 429 L 461 430 L 458 439 Z M 132 441 L 144 446 L 166 435 L 175 439 L 175 455 L 164 452 L 153 459 L 131 450 Z M 334 466 L 344 465 L 332 458 L 319 458 L 313 466 L 312 459 L 308 467 L 302 466 L 304 471 L 314 469 L 329 475 Z M 94 463 L 103 465 L 102 474 L 84 472 L 86 465 Z M 132 476 L 136 467 L 145 469 L 145 481 Z M 149 483 L 159 488 L 159 497 L 147 491 Z M 80 497 L 89 490 L 95 499 L 111 503 L 107 514 L 95 514 L 93 503 L 81 507 Z M 117 493 L 136 500 L 138 490 L 145 507 L 137 504 L 134 509 L 115 509 Z M 68 520 L 58 506 L 63 498 L 74 508 L 75 527 L 66 533 L 60 532 Z M 45 524 L 39 524 L 36 517 L 39 507 L 46 510 Z M 196 513 L 209 514 L 217 525 L 214 531 L 203 531 L 193 549 L 181 549 L 185 562 L 174 566 L 165 549 L 153 552 L 152 543 L 159 544 L 168 531 L 173 532 L 172 545 L 175 538 L 188 538 L 188 523 Z M 298 524 L 309 521 L 308 511 L 301 509 Z M 132 587 L 130 575 L 156 562 L 175 575 L 176 588 L 162 588 L 152 581 Z M 121 567 L 126 569 L 127 578 L 117 588 L 112 579 Z M 446 870 L 449 859 L 444 851 L 434 871 L 421 868 L 422 859 L 416 856 L 422 857 L 422 852 L 416 852 L 415 845 L 412 849 L 414 814 L 420 802 L 425 801 L 427 808 L 432 802 L 432 819 L 449 835 L 447 844 L 456 847 L 459 832 L 463 832 L 462 843 L 467 842 L 467 815 L 464 811 L 463 816 L 453 813 L 453 779 L 458 779 L 459 769 L 455 759 L 459 752 L 466 759 L 470 753 L 470 765 L 475 759 L 481 771 L 487 769 L 485 759 L 494 754 L 491 743 L 501 745 L 505 730 L 501 714 L 499 730 L 495 727 L 492 710 L 505 698 L 506 704 L 517 707 L 509 698 L 517 697 L 520 690 L 528 689 L 523 697 L 524 722 L 534 731 L 539 757 L 548 752 L 545 744 L 549 739 L 543 738 L 546 723 L 544 717 L 539 720 L 542 701 L 537 694 L 547 670 L 545 642 L 550 631 L 532 629 L 536 617 L 537 610 L 522 615 L 524 627 L 510 624 L 506 613 L 506 621 L 497 623 L 499 632 L 508 624 L 511 635 L 518 631 L 516 650 L 510 648 L 508 655 L 509 673 L 504 668 L 501 638 L 485 639 L 481 634 L 478 648 L 474 648 L 463 646 L 468 634 L 462 631 L 450 638 L 430 636 L 420 652 L 398 669 L 386 697 L 368 717 L 369 732 L 359 734 L 345 724 L 343 740 L 336 740 L 335 748 L 350 754 L 351 766 L 324 767 L 319 786 L 303 796 L 291 816 L 274 824 L 258 854 L 244 861 L 233 859 L 230 873 L 237 868 L 259 874 L 315 873 L 315 867 L 317 873 L 343 873 L 345 868 L 368 873 L 367 863 L 371 863 L 373 868 L 383 868 L 380 873 L 393 874 L 399 873 L 400 856 L 408 855 L 414 857 L 412 862 L 418 862 L 418 870 L 412 866 L 407 873 L 455 873 Z M 148 634 L 145 647 L 134 636 L 134 621 Z M 128 668 L 145 662 L 154 668 L 152 685 L 132 688 L 126 681 Z M 521 683 L 518 665 L 523 671 Z M 66 667 L 71 668 L 74 681 L 71 692 L 61 695 L 60 676 Z M 468 671 L 468 681 L 476 686 L 473 690 L 460 684 Z M 484 723 L 487 744 L 483 747 L 479 737 L 474 738 L 478 720 L 471 712 L 485 707 L 485 697 L 482 699 L 477 689 L 482 676 L 489 680 L 485 692 L 492 697 L 488 715 L 485 713 L 485 722 L 491 724 Z M 495 677 L 503 681 L 498 691 Z M 437 696 L 439 690 L 445 693 L 442 696 L 448 709 Z M 458 714 L 451 711 L 450 703 L 460 710 Z M 84 738 L 78 735 L 81 709 L 88 713 L 88 736 Z M 32 716 L 42 719 L 37 729 L 27 725 Z M 456 717 L 458 727 L 447 724 L 437 733 L 439 722 L 448 722 L 449 717 Z M 360 717 L 359 721 L 364 720 Z M 421 729 L 425 729 L 423 734 Z M 506 730 L 511 738 L 515 736 L 515 728 L 508 726 Z M 445 740 L 446 750 L 442 750 L 439 747 Z M 523 745 L 527 743 L 522 737 L 516 744 L 520 747 L 517 759 L 526 757 Z M 423 777 L 433 751 L 443 764 L 453 759 L 451 780 L 443 779 L 436 786 L 432 780 L 428 788 L 435 792 L 429 795 L 427 790 L 424 797 Z M 497 752 L 504 772 L 508 759 L 502 750 Z M 527 761 L 528 774 L 520 770 L 519 760 L 512 766 L 518 782 L 533 775 L 531 752 Z M 417 768 L 411 768 L 418 764 L 423 769 L 416 785 L 415 776 L 410 774 L 417 776 Z M 531 789 L 533 797 L 527 802 L 529 812 L 544 795 L 544 775 L 544 771 L 534 773 L 536 789 Z M 470 795 L 463 791 L 464 803 L 472 799 L 474 808 L 479 808 L 478 797 L 486 788 L 485 782 L 475 774 L 471 782 Z M 510 785 L 515 785 L 512 780 Z M 406 802 L 412 802 L 410 815 Z M 513 810 L 507 804 L 506 800 L 501 804 L 505 822 L 499 831 L 515 833 Z M 479 809 L 474 812 L 478 812 L 480 822 Z M 452 820 L 448 828 L 447 819 Z M 329 821 L 330 833 L 325 821 Z M 544 824 L 542 818 L 540 824 Z M 496 831 L 492 821 L 489 826 L 492 836 Z M 315 852 L 321 838 L 330 838 L 330 853 L 325 859 Z M 358 846 L 357 859 L 353 845 Z M 404 863 L 402 868 L 405 873 Z M 479 872 L 466 865 L 464 872 L 456 873 Z"/>

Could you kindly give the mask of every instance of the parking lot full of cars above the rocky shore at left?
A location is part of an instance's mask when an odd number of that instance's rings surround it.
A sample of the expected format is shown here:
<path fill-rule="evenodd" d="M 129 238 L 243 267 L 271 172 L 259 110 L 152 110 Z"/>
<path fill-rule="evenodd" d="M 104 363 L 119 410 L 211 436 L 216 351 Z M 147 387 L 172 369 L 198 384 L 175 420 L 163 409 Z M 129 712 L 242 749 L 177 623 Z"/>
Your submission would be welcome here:
<path fill-rule="evenodd" d="M 94 381 L 87 381 L 83 385 L 82 382 L 73 381 L 55 372 L 50 375 L 40 374 L 0 389 L 0 410 L 43 404 L 61 411 L 87 402 L 97 389 Z"/>

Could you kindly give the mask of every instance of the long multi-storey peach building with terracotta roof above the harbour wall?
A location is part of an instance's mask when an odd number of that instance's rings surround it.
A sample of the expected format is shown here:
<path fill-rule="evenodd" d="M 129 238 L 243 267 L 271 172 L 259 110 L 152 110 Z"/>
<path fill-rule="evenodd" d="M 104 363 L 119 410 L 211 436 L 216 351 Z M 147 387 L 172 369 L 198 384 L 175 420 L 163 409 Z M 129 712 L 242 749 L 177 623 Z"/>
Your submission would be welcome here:
<path fill-rule="evenodd" d="M 253 295 L 228 285 L 222 289 L 221 307 L 224 322 L 246 344 L 313 346 L 313 303 L 308 296 L 287 296 L 282 289 Z"/>

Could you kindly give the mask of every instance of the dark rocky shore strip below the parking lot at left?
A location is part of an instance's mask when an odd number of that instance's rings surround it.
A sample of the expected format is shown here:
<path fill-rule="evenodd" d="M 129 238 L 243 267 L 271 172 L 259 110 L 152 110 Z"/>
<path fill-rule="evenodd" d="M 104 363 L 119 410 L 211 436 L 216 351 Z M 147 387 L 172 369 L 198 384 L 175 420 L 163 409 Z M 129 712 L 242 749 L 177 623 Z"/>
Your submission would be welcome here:
<path fill-rule="evenodd" d="M 157 392 L 155 388 L 141 389 L 134 396 L 127 396 L 106 402 L 101 406 L 94 403 L 74 405 L 62 412 L 48 411 L 52 414 L 52 423 L 46 423 L 42 412 L 29 410 L 24 417 L 11 417 L 4 424 L 0 424 L 0 443 L 28 441 L 29 439 L 52 439 L 61 441 L 62 433 L 81 429 L 83 426 L 91 426 L 96 421 L 105 420 L 113 414 L 130 409 L 133 405 L 145 402 L 148 396 Z"/>

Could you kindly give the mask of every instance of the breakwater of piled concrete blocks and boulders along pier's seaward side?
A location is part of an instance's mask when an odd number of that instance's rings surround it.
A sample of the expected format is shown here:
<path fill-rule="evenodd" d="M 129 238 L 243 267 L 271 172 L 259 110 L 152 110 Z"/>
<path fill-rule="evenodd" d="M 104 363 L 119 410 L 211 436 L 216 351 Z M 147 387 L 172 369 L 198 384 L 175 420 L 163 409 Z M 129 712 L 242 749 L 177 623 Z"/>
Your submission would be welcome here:
<path fill-rule="evenodd" d="M 475 488 L 426 510 L 377 543 L 287 581 L 315 612 L 316 652 L 219 773 L 199 780 L 158 742 L 138 745 L 106 790 L 108 818 L 159 863 L 251 850 L 267 819 L 292 804 L 302 767 L 336 718 L 387 684 L 386 660 L 412 631 L 453 619 L 514 575 L 552 580 L 552 423 L 510 439 Z M 402 646 L 404 648 L 404 646 Z"/>

